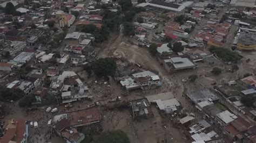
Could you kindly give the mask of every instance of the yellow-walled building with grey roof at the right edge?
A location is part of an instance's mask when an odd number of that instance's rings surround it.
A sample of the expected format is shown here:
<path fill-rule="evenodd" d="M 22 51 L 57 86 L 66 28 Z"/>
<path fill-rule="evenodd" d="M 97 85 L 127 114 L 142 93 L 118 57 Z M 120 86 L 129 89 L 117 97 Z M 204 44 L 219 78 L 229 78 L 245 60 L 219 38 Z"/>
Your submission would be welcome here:
<path fill-rule="evenodd" d="M 240 33 L 237 48 L 246 51 L 256 49 L 256 33 Z"/>

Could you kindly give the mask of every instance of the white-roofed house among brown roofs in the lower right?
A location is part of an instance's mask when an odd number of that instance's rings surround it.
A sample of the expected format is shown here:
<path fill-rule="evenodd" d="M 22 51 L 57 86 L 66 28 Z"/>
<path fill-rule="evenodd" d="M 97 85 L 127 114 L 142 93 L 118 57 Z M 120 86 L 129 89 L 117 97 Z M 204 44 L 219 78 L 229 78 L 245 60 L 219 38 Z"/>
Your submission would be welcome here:
<path fill-rule="evenodd" d="M 221 127 L 225 127 L 231 123 L 231 121 L 237 119 L 238 117 L 235 116 L 233 113 L 230 111 L 223 111 L 220 112 L 216 115 L 215 120 Z"/>

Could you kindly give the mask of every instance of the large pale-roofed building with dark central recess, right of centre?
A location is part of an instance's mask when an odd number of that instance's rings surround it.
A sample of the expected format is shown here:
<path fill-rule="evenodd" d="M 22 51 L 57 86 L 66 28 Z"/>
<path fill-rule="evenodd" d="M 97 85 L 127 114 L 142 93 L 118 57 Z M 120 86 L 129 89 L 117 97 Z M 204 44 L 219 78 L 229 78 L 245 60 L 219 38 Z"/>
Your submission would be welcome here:
<path fill-rule="evenodd" d="M 174 57 L 164 60 L 164 66 L 167 71 L 172 73 L 173 71 L 181 69 L 194 69 L 196 65 L 188 58 Z"/>

